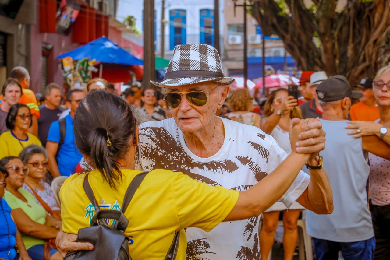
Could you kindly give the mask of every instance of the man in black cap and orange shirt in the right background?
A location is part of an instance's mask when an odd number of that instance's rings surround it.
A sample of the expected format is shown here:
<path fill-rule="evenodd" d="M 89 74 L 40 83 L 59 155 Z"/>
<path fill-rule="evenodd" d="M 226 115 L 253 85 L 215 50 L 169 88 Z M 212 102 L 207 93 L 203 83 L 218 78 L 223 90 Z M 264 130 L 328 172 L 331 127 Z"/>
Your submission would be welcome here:
<path fill-rule="evenodd" d="M 362 78 L 356 86 L 363 96 L 360 102 L 353 104 L 349 110 L 352 120 L 375 121 L 379 119 L 379 108 L 376 104 L 374 91 L 372 90 L 372 78 Z"/>

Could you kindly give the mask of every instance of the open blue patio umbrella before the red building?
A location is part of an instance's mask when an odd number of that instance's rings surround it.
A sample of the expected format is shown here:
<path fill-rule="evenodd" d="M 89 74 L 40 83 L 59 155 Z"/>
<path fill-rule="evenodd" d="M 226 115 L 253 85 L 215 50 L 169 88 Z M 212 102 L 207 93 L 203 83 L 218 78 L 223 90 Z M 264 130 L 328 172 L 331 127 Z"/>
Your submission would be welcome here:
<path fill-rule="evenodd" d="M 106 37 L 97 38 L 94 41 L 80 46 L 73 51 L 68 51 L 58 59 L 72 57 L 73 60 L 83 58 L 95 59 L 100 63 L 121 64 L 121 65 L 143 65 L 144 62 L 123 50 L 118 44 L 110 41 Z"/>

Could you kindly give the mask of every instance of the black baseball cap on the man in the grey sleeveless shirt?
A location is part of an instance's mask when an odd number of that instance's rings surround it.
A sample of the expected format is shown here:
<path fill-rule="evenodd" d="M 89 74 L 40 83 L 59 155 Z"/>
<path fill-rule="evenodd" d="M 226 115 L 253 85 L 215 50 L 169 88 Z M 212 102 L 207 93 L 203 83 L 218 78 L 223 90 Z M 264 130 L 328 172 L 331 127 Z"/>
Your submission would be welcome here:
<path fill-rule="evenodd" d="M 344 97 L 360 98 L 360 91 L 353 91 L 346 77 L 342 75 L 330 76 L 317 87 L 318 99 L 324 102 L 332 102 Z"/>

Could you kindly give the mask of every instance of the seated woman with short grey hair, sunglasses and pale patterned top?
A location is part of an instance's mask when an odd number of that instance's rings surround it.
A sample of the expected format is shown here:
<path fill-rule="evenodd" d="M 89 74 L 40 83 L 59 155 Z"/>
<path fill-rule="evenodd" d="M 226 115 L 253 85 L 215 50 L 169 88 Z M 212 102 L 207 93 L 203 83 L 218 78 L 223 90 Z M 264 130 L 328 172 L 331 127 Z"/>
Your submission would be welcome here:
<path fill-rule="evenodd" d="M 38 145 L 29 145 L 22 150 L 19 158 L 29 169 L 23 189 L 35 197 L 35 200 L 45 208 L 47 214 L 61 220 L 60 207 L 55 200 L 53 190 L 42 179 L 48 166 L 46 150 Z"/>

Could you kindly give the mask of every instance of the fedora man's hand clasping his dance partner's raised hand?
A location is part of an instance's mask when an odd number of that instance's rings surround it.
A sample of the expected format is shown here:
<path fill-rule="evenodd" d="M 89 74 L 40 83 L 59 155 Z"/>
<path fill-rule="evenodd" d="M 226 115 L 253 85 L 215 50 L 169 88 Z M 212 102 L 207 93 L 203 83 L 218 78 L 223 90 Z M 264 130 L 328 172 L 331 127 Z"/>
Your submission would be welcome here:
<path fill-rule="evenodd" d="M 293 126 L 298 123 L 302 124 L 302 122 L 304 122 L 303 131 L 298 134 L 298 140 L 294 139 L 294 143 L 291 143 L 291 150 L 300 154 L 311 154 L 310 159 L 313 159 L 325 149 L 325 132 L 319 118 L 301 119 L 300 122 L 298 119 L 291 120 Z"/>

